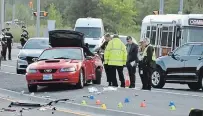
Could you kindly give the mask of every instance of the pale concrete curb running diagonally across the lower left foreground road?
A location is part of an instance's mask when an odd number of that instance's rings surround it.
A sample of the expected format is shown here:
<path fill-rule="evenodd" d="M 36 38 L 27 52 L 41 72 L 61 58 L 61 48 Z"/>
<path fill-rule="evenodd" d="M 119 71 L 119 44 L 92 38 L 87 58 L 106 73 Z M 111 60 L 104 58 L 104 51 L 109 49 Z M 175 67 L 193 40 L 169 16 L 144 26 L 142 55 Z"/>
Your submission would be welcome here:
<path fill-rule="evenodd" d="M 50 98 L 43 98 L 43 97 L 37 97 L 37 96 L 32 96 L 29 94 L 21 94 L 19 92 L 7 90 L 7 89 L 2 89 L 0 88 L 0 96 L 5 97 L 5 98 L 15 98 L 17 100 L 23 100 L 23 101 L 32 101 L 32 102 L 37 102 L 37 103 L 49 103 L 50 101 L 54 101 L 55 99 L 50 99 Z M 119 110 L 113 110 L 113 109 L 106 109 L 103 110 L 100 107 L 94 107 L 90 105 L 81 105 L 78 103 L 73 103 L 73 102 L 60 102 L 56 105 L 54 105 L 57 109 L 69 109 L 73 111 L 79 111 L 79 112 L 87 112 L 88 113 L 94 113 L 99 115 L 104 115 L 105 116 L 150 116 L 147 114 L 140 114 L 140 113 L 132 113 L 132 112 L 124 112 L 124 111 L 119 111 Z"/>

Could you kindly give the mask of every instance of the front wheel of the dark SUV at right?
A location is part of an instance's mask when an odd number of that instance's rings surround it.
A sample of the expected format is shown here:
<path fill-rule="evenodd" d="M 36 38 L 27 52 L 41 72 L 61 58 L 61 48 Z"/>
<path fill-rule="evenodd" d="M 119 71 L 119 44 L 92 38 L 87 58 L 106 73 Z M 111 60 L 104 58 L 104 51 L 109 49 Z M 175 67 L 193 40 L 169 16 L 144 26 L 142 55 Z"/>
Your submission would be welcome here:
<path fill-rule="evenodd" d="M 165 76 L 161 69 L 156 68 L 152 73 L 152 87 L 153 88 L 163 88 L 165 85 Z"/>

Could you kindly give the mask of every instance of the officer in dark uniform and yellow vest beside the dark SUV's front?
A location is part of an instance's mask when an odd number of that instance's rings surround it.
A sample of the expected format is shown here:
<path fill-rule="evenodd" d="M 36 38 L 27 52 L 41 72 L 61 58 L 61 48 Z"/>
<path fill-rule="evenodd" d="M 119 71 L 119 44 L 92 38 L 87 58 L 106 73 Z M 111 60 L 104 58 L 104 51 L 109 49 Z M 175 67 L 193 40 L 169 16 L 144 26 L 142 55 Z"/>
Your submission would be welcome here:
<path fill-rule="evenodd" d="M 150 45 L 150 39 L 143 39 L 144 51 L 142 54 L 143 63 L 143 88 L 144 90 L 151 90 L 151 75 L 156 66 L 156 54 L 155 49 Z"/>

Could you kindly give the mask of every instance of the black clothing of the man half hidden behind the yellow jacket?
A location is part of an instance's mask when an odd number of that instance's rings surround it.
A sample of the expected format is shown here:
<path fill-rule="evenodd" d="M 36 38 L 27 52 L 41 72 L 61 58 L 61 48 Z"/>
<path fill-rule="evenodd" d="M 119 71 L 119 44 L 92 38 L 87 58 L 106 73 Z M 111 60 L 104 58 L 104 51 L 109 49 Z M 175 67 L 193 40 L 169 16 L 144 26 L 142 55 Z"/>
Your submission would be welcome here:
<path fill-rule="evenodd" d="M 108 45 L 108 42 L 109 41 L 105 41 L 102 45 L 101 45 L 101 49 L 102 50 L 105 50 L 106 49 L 106 46 Z M 102 62 L 104 62 L 104 55 L 102 57 Z M 107 82 L 109 82 L 109 86 L 112 85 L 112 81 L 110 80 L 110 76 L 109 76 L 109 66 L 108 64 L 104 64 L 104 69 L 105 69 L 105 72 L 106 72 L 106 77 L 107 77 Z"/>

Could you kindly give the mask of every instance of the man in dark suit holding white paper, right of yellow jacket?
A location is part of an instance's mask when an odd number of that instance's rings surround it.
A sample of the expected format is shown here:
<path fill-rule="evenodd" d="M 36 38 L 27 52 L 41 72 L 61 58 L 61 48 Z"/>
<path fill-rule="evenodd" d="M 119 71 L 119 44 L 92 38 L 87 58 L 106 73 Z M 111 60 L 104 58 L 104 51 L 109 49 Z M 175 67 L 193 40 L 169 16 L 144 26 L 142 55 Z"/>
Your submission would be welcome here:
<path fill-rule="evenodd" d="M 130 77 L 130 86 L 129 88 L 135 88 L 135 73 L 136 73 L 136 67 L 138 63 L 138 45 L 133 43 L 132 37 L 128 36 L 127 37 L 127 52 L 128 52 L 128 57 L 127 57 L 127 69 L 128 69 L 128 74 Z"/>

